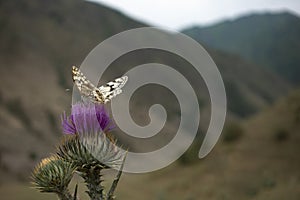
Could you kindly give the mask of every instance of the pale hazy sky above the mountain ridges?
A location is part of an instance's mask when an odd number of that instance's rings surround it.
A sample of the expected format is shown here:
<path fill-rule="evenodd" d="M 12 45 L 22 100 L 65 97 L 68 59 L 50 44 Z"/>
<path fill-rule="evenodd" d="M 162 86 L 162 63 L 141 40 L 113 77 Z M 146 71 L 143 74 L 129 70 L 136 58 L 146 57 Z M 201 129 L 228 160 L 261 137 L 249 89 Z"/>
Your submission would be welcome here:
<path fill-rule="evenodd" d="M 153 26 L 178 30 L 207 25 L 249 12 L 290 10 L 300 15 L 300 0 L 93 0 Z"/>

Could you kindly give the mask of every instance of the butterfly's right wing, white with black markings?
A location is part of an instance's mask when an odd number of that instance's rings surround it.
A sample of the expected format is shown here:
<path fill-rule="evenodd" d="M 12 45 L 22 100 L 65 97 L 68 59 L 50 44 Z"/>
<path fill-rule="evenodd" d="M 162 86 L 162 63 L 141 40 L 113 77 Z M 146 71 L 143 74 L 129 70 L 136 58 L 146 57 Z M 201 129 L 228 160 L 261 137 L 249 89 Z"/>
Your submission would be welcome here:
<path fill-rule="evenodd" d="M 127 76 L 122 76 L 106 83 L 105 86 L 100 86 L 98 89 L 102 93 L 104 103 L 109 102 L 113 97 L 117 96 L 122 92 L 122 87 L 126 84 L 128 80 Z"/>

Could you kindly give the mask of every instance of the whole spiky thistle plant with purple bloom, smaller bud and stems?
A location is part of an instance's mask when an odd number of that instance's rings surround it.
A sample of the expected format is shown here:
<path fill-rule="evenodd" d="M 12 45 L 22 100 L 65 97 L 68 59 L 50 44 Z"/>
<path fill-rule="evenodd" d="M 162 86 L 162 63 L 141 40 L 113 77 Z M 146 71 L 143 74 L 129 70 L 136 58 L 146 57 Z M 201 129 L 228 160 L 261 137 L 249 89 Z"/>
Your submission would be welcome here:
<path fill-rule="evenodd" d="M 70 116 L 65 113 L 62 116 L 62 128 L 67 137 L 58 146 L 56 155 L 43 160 L 34 170 L 35 186 L 42 192 L 57 193 L 60 199 L 76 199 L 77 188 L 73 196 L 67 190 L 76 172 L 84 179 L 92 200 L 113 199 L 126 151 L 116 145 L 109 133 L 113 126 L 104 106 L 73 105 Z M 101 171 L 111 168 L 119 172 L 105 195 Z"/>

